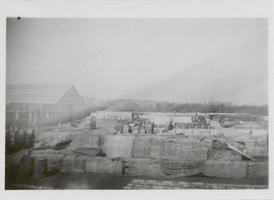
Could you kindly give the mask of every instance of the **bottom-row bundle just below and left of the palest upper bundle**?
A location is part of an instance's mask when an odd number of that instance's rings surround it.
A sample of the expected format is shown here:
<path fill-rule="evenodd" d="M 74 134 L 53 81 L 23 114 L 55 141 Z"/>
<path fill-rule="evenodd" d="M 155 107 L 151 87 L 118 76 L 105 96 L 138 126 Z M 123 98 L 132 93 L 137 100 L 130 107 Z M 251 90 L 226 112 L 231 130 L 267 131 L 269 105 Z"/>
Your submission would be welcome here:
<path fill-rule="evenodd" d="M 123 174 L 123 162 L 110 158 L 92 157 L 86 160 L 86 171 L 93 173 Z"/>

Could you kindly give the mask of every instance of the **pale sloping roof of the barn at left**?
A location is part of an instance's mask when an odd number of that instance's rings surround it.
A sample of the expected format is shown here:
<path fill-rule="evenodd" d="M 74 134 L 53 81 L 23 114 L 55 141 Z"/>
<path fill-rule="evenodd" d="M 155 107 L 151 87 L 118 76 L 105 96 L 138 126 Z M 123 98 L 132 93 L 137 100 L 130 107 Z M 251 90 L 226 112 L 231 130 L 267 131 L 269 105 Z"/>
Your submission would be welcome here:
<path fill-rule="evenodd" d="M 7 85 L 6 102 L 56 103 L 71 88 L 64 85 Z"/>

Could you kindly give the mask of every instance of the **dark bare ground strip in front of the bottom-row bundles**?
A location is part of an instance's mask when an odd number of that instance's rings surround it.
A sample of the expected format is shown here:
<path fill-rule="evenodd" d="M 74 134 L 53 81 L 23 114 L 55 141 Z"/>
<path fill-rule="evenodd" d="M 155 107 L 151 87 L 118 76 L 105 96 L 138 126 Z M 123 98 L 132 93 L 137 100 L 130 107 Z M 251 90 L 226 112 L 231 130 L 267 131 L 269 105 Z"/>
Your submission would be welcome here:
<path fill-rule="evenodd" d="M 215 184 L 249 184 L 268 185 L 268 179 L 229 179 L 214 177 L 184 177 L 177 179 L 166 179 L 165 177 L 132 176 L 132 175 L 110 175 L 104 173 L 58 173 L 52 171 L 45 179 L 16 179 L 13 184 L 26 184 L 34 186 L 48 186 L 60 190 L 123 190 L 133 179 L 169 180 L 175 182 L 203 182 Z M 13 179 L 14 180 L 14 179 Z M 11 181 L 11 180 L 10 180 Z M 6 183 L 10 183 L 6 180 Z M 6 186 L 6 190 L 16 190 L 14 186 Z"/>

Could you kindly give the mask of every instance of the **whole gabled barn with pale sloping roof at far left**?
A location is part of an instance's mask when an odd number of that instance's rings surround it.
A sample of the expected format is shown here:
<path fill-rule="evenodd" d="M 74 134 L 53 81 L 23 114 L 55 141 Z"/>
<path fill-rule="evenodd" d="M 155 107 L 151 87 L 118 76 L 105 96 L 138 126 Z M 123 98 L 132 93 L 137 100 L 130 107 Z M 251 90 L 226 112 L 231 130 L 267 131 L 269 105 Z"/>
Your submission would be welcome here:
<path fill-rule="evenodd" d="M 7 85 L 5 125 L 18 128 L 57 125 L 84 117 L 75 86 Z"/>

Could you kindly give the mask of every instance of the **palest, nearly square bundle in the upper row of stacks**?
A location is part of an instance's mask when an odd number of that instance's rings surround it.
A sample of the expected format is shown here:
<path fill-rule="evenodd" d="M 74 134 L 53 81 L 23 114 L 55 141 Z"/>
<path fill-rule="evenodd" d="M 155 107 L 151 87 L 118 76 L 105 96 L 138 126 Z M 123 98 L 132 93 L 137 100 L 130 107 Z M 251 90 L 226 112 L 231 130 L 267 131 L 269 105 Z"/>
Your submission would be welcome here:
<path fill-rule="evenodd" d="M 103 143 L 103 153 L 107 158 L 116 158 L 123 156 L 124 158 L 132 158 L 132 148 L 134 146 L 135 136 L 105 136 Z"/>

